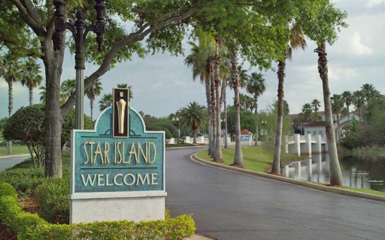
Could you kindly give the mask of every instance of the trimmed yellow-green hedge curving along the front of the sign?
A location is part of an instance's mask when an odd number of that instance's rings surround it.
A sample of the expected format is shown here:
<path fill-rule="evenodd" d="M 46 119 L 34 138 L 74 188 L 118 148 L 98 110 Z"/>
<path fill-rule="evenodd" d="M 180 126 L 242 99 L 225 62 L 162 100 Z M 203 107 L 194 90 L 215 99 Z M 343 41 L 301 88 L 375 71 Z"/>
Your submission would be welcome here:
<path fill-rule="evenodd" d="M 18 202 L 15 188 L 8 183 L 0 183 L 0 218 L 17 232 L 20 240 L 178 240 L 192 235 L 196 229 L 191 215 L 141 222 L 51 224 L 37 214 L 25 212 Z"/>

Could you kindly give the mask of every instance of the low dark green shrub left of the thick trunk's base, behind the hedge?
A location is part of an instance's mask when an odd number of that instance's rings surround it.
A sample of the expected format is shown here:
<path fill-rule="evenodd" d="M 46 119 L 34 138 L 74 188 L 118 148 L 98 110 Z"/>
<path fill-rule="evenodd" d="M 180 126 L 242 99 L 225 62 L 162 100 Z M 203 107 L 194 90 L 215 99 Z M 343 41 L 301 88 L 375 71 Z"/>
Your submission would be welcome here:
<path fill-rule="evenodd" d="M 8 182 L 16 190 L 29 193 L 42 177 L 44 177 L 43 168 L 12 168 L 0 174 L 0 182 Z"/>

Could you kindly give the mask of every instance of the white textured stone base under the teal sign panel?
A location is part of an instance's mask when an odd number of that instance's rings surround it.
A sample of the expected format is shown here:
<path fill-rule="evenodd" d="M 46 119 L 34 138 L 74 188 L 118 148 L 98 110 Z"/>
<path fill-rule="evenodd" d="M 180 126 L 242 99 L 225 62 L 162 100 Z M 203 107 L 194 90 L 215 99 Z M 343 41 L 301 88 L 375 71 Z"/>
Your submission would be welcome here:
<path fill-rule="evenodd" d="M 164 219 L 165 191 L 70 194 L 70 224 Z"/>

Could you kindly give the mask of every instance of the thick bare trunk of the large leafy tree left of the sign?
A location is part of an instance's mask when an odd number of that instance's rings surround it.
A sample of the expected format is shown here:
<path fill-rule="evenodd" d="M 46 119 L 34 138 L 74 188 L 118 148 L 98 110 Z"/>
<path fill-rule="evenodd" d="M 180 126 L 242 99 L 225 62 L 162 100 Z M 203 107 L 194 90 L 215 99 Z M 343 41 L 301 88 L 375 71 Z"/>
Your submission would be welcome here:
<path fill-rule="evenodd" d="M 45 175 L 62 177 L 60 76 L 64 47 L 61 50 L 54 50 L 52 40 L 46 40 L 43 44 L 43 50 L 45 52 L 43 62 L 46 70 Z"/>

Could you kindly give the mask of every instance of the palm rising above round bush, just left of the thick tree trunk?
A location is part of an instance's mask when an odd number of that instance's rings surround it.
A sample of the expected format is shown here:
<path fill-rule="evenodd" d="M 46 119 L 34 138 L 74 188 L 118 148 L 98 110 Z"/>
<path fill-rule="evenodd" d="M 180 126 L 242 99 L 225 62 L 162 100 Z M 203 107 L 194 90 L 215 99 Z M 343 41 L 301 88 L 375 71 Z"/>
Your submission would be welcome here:
<path fill-rule="evenodd" d="M 27 85 L 30 95 L 30 105 L 33 104 L 33 89 L 40 85 L 43 81 L 43 76 L 40 75 L 40 64 L 37 64 L 35 60 L 31 59 L 25 63 L 25 72 L 23 79 L 21 80 L 23 85 Z"/>

